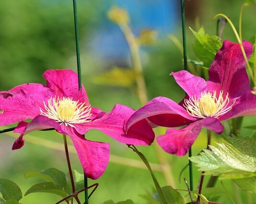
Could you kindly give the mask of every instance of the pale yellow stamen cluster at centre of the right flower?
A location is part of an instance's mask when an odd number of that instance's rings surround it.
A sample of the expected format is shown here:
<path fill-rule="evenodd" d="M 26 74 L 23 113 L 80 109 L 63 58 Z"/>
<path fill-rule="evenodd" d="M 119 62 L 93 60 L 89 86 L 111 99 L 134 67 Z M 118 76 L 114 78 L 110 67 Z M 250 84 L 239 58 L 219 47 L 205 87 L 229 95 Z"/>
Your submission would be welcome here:
<path fill-rule="evenodd" d="M 185 99 L 186 111 L 189 115 L 197 118 L 207 118 L 214 117 L 218 118 L 221 115 L 227 113 L 231 110 L 232 105 L 229 105 L 228 93 L 223 98 L 223 91 L 220 91 L 220 95 L 216 97 L 216 91 L 213 94 L 210 92 L 202 92 L 201 97 L 196 98 L 196 96 Z"/>

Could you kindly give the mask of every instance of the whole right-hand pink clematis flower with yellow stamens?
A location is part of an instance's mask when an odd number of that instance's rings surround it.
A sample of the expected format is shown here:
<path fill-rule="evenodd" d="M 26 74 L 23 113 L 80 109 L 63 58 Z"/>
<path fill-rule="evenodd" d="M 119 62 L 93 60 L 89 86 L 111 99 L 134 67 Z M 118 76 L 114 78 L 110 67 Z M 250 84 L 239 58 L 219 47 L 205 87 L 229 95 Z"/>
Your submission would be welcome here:
<path fill-rule="evenodd" d="M 247 58 L 252 44 L 243 42 Z M 186 91 L 186 97 L 176 104 L 166 97 L 156 97 L 137 110 L 126 124 L 130 129 L 142 119 L 167 129 L 156 138 L 168 153 L 183 156 L 197 139 L 202 128 L 218 134 L 223 131 L 220 121 L 256 114 L 256 96 L 251 93 L 245 70 L 245 60 L 238 43 L 224 41 L 209 68 L 209 80 L 187 71 L 172 73 L 175 81 Z"/>

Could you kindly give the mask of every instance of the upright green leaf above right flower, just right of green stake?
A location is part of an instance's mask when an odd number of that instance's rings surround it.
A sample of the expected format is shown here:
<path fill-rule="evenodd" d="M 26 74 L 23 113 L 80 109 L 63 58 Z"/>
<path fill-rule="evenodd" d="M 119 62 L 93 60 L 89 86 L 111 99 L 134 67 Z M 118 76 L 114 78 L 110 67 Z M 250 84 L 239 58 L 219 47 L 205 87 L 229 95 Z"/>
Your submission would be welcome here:
<path fill-rule="evenodd" d="M 209 34 L 205 34 L 203 27 L 201 27 L 198 32 L 195 32 L 191 28 L 189 29 L 196 37 L 196 42 L 193 45 L 194 53 L 201 61 L 203 61 L 204 66 L 209 67 L 217 51 L 222 46 L 218 36 L 209 36 Z"/>

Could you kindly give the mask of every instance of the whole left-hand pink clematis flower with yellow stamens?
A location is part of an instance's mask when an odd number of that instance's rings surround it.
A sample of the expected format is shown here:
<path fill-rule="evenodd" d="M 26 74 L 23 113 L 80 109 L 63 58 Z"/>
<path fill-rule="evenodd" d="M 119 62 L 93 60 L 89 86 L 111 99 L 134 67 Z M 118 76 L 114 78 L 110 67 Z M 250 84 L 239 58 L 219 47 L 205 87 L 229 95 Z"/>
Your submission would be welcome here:
<path fill-rule="evenodd" d="M 54 128 L 70 136 L 86 177 L 97 179 L 108 164 L 109 144 L 84 139 L 83 134 L 90 129 L 99 129 L 126 144 L 150 145 L 154 140 L 146 120 L 124 132 L 124 123 L 135 112 L 133 109 L 116 104 L 105 113 L 91 107 L 84 87 L 78 91 L 78 77 L 72 70 L 47 70 L 43 77 L 47 86 L 24 84 L 0 92 L 0 125 L 19 122 L 14 132 L 21 135 L 13 150 L 23 146 L 25 134 Z M 27 123 L 25 119 L 32 120 Z"/>

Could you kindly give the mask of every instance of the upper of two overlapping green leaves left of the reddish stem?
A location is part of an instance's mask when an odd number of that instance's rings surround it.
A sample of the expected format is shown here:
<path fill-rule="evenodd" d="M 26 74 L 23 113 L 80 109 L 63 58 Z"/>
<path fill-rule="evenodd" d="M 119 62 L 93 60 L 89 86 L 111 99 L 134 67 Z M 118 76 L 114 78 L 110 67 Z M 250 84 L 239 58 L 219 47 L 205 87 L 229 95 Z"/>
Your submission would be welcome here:
<path fill-rule="evenodd" d="M 49 168 L 42 171 L 28 171 L 24 176 L 26 179 L 31 177 L 40 178 L 61 187 L 64 187 L 66 183 L 65 173 L 56 168 Z"/>

